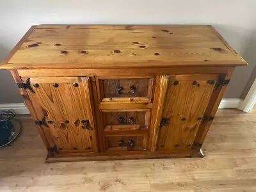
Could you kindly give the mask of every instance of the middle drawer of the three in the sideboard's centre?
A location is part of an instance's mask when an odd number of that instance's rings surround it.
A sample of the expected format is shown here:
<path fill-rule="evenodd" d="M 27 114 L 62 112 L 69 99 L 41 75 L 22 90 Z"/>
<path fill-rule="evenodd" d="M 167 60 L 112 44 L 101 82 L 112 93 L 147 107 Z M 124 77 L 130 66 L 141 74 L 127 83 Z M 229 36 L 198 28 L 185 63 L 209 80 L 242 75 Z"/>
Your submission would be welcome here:
<path fill-rule="evenodd" d="M 145 130 L 150 124 L 150 110 L 102 110 L 102 120 L 104 131 Z"/>

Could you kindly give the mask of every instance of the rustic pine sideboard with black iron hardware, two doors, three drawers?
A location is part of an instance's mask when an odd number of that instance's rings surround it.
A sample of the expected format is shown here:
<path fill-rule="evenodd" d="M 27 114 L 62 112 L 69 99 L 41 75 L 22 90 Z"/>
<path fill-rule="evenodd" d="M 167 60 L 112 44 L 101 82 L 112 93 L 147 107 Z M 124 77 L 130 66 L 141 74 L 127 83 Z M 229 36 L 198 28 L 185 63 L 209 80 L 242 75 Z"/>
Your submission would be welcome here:
<path fill-rule="evenodd" d="M 212 26 L 40 25 L 1 68 L 58 162 L 204 157 L 237 65 Z"/>

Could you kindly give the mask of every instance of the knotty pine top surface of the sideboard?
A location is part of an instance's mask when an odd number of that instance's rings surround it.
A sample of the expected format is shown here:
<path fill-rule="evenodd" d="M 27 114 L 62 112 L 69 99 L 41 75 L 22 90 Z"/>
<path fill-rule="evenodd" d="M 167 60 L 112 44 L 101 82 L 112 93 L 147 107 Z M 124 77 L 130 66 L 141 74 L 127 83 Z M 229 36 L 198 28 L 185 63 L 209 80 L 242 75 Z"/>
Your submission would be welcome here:
<path fill-rule="evenodd" d="M 234 66 L 246 61 L 212 26 L 32 26 L 1 68 Z"/>

